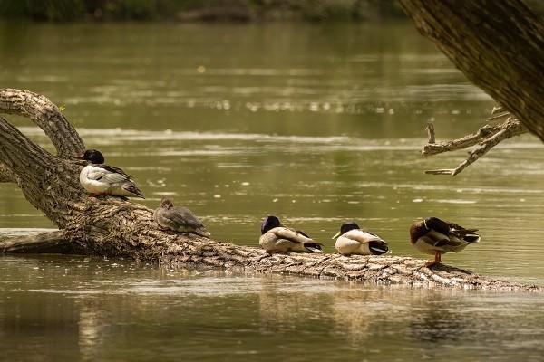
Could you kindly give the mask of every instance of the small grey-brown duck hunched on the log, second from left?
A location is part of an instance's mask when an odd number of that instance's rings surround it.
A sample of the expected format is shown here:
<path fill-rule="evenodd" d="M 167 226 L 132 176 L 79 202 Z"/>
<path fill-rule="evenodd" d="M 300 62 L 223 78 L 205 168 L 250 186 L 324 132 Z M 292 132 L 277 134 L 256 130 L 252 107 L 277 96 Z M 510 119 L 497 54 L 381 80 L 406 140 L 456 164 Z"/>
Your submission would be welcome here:
<path fill-rule="evenodd" d="M 160 201 L 160 207 L 153 213 L 153 218 L 161 227 L 175 232 L 196 233 L 205 237 L 211 235 L 197 216 L 185 207 L 174 207 L 172 200 L 168 197 Z"/>

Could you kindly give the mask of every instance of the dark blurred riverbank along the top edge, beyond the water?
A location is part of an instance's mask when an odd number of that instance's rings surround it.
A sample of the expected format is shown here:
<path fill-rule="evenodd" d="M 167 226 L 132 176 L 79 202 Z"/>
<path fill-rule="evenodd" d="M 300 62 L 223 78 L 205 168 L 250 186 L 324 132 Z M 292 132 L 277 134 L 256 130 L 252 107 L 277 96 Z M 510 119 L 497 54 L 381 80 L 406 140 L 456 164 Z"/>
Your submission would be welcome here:
<path fill-rule="evenodd" d="M 393 0 L 0 0 L 0 17 L 33 21 L 363 21 L 403 16 Z"/>

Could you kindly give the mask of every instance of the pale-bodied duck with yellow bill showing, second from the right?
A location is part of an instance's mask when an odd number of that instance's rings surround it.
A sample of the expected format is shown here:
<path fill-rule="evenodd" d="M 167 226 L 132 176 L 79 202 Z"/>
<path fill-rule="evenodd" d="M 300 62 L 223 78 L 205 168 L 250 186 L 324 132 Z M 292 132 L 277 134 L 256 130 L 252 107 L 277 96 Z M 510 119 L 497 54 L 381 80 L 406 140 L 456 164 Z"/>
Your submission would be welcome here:
<path fill-rule="evenodd" d="M 336 239 L 335 249 L 342 255 L 382 255 L 389 252 L 387 242 L 375 233 L 361 230 L 353 221 L 342 224 L 333 239 Z"/>

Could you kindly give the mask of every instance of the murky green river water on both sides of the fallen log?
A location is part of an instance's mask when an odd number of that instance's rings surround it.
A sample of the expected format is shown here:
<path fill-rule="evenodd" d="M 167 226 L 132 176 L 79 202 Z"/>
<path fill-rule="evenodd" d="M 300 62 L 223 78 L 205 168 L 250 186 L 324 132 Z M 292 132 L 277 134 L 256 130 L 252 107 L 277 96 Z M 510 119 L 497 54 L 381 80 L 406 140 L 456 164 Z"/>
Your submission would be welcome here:
<path fill-rule="evenodd" d="M 543 146 L 516 138 L 455 178 L 493 102 L 412 24 L 0 24 L 0 86 L 44 93 L 90 148 L 173 195 L 219 240 L 256 244 L 277 214 L 327 243 L 353 218 L 394 253 L 415 218 L 481 229 L 444 260 L 544 284 Z M 47 139 L 24 119 L 31 138 Z M 139 201 L 140 202 L 140 201 Z M 51 227 L 0 185 L 0 228 Z M 540 360 L 540 296 L 168 271 L 128 261 L 4 257 L 9 360 Z"/>

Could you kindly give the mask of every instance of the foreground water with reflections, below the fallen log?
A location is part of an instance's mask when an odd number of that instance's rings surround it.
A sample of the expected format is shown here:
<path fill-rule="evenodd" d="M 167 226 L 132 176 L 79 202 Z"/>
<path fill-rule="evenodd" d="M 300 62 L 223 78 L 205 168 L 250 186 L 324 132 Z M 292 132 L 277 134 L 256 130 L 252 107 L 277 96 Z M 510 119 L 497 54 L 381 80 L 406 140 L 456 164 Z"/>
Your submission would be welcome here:
<path fill-rule="evenodd" d="M 181 355 L 506 361 L 544 353 L 539 295 L 229 275 L 98 258 L 3 257 L 0 272 L 0 347 L 11 360 L 24 353 L 134 361 Z"/>

